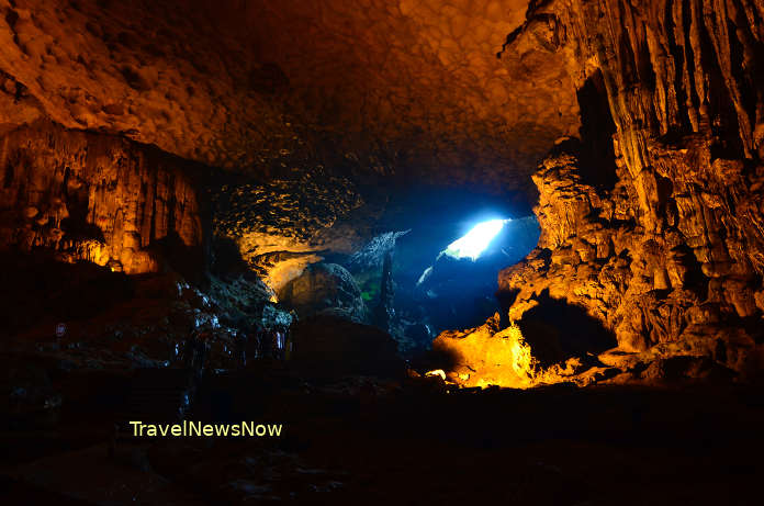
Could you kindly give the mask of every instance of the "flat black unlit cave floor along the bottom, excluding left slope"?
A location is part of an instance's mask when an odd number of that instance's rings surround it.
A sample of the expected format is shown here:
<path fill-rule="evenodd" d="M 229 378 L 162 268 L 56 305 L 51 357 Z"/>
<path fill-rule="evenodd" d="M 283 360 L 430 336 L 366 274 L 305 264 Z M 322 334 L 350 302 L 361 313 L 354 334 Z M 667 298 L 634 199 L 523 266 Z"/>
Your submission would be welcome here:
<path fill-rule="evenodd" d="M 130 375 L 57 384 L 69 402 L 3 424 L 3 504 L 757 504 L 753 386 L 449 390 L 260 361 L 207 375 L 191 418 L 277 421 L 282 437 L 133 440 L 109 457 Z"/>

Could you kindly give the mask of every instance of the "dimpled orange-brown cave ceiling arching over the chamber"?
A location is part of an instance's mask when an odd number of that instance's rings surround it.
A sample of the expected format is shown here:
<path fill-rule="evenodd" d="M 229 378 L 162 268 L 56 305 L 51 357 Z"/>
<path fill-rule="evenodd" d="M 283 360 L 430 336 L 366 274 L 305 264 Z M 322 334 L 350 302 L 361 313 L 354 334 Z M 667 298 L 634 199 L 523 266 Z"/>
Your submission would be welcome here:
<path fill-rule="evenodd" d="M 524 0 L 46 7 L 0 0 L 0 131 L 47 117 L 231 170 L 341 159 L 384 178 L 525 191 L 554 139 L 578 128 L 543 34 L 502 53 Z"/>

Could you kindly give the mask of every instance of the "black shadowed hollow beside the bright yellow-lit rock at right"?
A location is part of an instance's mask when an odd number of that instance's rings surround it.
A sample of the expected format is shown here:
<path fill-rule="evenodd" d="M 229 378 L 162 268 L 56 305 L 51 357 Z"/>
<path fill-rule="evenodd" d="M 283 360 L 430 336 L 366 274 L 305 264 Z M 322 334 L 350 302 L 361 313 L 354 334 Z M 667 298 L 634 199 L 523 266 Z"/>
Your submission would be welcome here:
<path fill-rule="evenodd" d="M 543 367 L 618 346 L 616 336 L 583 308 L 552 299 L 548 290 L 536 300 L 539 305 L 523 315 L 519 326 Z"/>

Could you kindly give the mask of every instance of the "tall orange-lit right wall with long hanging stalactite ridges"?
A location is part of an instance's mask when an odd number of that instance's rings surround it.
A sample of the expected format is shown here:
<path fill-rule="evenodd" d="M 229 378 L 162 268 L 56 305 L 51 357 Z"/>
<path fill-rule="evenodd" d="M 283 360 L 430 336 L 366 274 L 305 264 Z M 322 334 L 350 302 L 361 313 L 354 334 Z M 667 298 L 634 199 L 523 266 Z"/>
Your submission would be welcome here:
<path fill-rule="evenodd" d="M 537 2 L 505 52 L 547 34 L 582 117 L 603 115 L 586 91 L 602 87 L 615 133 L 592 157 L 584 125 L 533 176 L 538 249 L 499 274 L 513 319 L 548 291 L 625 350 L 761 366 L 763 15 L 745 0 Z"/>

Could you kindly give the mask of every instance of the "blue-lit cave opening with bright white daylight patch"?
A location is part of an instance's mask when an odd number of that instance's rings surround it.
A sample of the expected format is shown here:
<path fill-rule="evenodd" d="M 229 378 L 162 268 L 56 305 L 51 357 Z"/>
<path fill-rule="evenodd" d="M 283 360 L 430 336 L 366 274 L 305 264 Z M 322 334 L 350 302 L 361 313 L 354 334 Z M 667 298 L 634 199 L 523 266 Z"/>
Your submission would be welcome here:
<path fill-rule="evenodd" d="M 356 251 L 324 256 L 323 265 L 337 265 L 352 278 L 339 292 L 357 283 L 357 292 L 349 293 L 358 293 L 361 301 L 318 296 L 315 308 L 304 301 L 296 306 L 302 305 L 299 313 L 304 315 L 336 314 L 328 300 L 355 307 L 351 319 L 390 333 L 400 353 L 412 359 L 429 350 L 441 331 L 475 327 L 502 313 L 496 273 L 525 258 L 539 232 L 536 216 L 524 215 L 504 195 L 417 187 L 393 195 L 373 237 Z M 288 292 L 280 300 L 290 306 L 294 291 Z M 366 317 L 359 306 L 366 307 Z"/>

